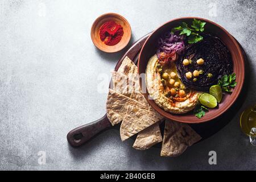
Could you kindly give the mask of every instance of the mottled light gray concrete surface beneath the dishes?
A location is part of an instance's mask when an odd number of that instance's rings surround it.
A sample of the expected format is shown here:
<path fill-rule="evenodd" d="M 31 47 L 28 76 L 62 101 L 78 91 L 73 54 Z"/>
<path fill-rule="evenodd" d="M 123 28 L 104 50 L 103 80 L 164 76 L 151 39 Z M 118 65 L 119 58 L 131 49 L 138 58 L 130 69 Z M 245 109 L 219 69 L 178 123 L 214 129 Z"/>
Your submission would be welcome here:
<path fill-rule="evenodd" d="M 234 119 L 213 137 L 175 159 L 158 148 L 135 151 L 111 129 L 85 146 L 68 146 L 74 127 L 105 114 L 102 80 L 125 50 L 108 54 L 90 40 L 97 16 L 115 12 L 129 20 L 131 43 L 167 20 L 201 16 L 225 27 L 245 48 L 250 87 Z M 256 169 L 256 147 L 240 130 L 239 116 L 255 104 L 256 1 L 0 1 L 0 169 L 134 170 Z M 98 92 L 98 91 L 101 92 Z M 46 152 L 46 164 L 38 152 Z M 210 166 L 208 152 L 217 152 Z"/>

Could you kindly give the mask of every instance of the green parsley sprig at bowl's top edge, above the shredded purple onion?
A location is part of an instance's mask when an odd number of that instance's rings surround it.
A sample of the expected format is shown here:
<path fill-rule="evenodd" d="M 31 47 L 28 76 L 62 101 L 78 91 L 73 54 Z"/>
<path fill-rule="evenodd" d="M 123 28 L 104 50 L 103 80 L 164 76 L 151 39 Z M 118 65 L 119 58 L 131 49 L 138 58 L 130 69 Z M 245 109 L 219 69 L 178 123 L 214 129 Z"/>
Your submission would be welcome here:
<path fill-rule="evenodd" d="M 188 27 L 188 24 L 182 22 L 179 27 L 172 28 L 172 33 L 176 31 L 180 31 L 180 35 L 187 35 L 188 36 L 188 43 L 193 44 L 197 43 L 200 40 L 203 40 L 203 36 L 199 33 L 204 31 L 205 22 L 201 22 L 200 20 L 194 19 L 192 22 L 192 26 Z"/>

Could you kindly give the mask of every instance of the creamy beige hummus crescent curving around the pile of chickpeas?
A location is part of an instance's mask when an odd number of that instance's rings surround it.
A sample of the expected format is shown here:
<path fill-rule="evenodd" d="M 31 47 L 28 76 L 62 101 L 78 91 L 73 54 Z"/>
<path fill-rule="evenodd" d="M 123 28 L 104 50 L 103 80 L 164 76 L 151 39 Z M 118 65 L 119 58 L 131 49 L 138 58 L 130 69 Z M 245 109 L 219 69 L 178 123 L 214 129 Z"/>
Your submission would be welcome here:
<path fill-rule="evenodd" d="M 162 107 L 164 110 L 174 114 L 184 114 L 193 110 L 199 100 L 200 92 L 189 90 L 189 94 L 182 98 L 181 101 L 171 100 L 164 94 L 164 86 L 161 82 L 160 73 L 156 71 L 159 60 L 156 55 L 152 56 L 148 61 L 146 68 L 146 85 L 151 99 Z"/>

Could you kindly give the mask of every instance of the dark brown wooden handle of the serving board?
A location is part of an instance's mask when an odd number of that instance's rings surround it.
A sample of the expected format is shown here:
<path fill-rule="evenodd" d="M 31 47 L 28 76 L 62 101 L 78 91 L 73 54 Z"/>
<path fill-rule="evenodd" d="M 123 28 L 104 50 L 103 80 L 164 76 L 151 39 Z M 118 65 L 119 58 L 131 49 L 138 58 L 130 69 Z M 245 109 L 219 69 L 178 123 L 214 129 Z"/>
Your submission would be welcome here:
<path fill-rule="evenodd" d="M 94 135 L 100 133 L 102 130 L 105 130 L 110 126 L 111 124 L 109 122 L 109 119 L 105 114 L 104 117 L 94 122 L 90 122 L 86 125 L 77 127 L 76 129 L 69 131 L 67 135 L 68 143 L 71 144 L 72 147 L 79 147 L 87 142 L 89 139 L 94 137 Z"/>

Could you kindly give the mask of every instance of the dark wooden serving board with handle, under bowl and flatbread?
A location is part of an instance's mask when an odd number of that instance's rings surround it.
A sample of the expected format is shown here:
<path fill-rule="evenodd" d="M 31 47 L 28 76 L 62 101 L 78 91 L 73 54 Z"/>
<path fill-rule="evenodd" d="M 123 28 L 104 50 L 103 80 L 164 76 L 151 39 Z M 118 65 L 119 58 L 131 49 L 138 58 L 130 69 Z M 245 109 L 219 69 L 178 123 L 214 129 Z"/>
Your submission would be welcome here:
<path fill-rule="evenodd" d="M 115 71 L 117 71 L 117 69 L 120 67 L 123 59 L 125 59 L 126 56 L 128 56 L 131 60 L 134 61 L 135 64 L 137 64 L 139 52 L 141 51 L 141 48 L 144 42 L 146 42 L 146 39 L 150 34 L 143 36 L 143 38 L 139 39 L 137 42 L 133 44 L 133 46 L 131 46 L 128 49 L 128 51 L 121 57 L 121 59 L 119 59 L 117 65 L 115 66 Z M 242 47 L 241 49 L 243 50 Z M 243 98 L 246 96 L 246 93 L 247 93 L 247 87 L 248 87 L 247 83 L 249 82 L 249 75 L 250 75 L 249 68 L 248 68 L 249 64 L 247 61 L 245 51 L 243 51 L 243 56 L 245 57 L 245 65 L 246 65 L 245 84 L 235 104 L 232 107 L 230 107 L 230 109 L 227 110 L 224 114 L 222 114 L 221 117 L 217 119 L 214 119 L 212 121 L 205 122 L 205 123 L 189 125 L 202 137 L 202 140 L 207 139 L 210 136 L 216 134 L 223 127 L 225 127 L 230 121 L 232 121 L 232 118 L 235 115 L 234 113 L 237 113 L 237 111 L 241 108 L 243 104 Z M 86 141 L 88 141 L 89 139 L 93 138 L 95 135 L 100 133 L 101 131 L 108 129 L 111 126 L 112 125 L 110 124 L 105 114 L 104 117 L 102 117 L 101 119 L 98 119 L 97 121 L 94 121 L 87 125 L 83 125 L 83 126 L 77 127 L 76 129 L 73 129 L 68 133 L 67 139 L 69 144 L 71 144 L 71 146 L 79 147 L 82 144 L 84 144 Z M 119 126 L 115 128 L 119 129 Z M 164 122 L 162 122 L 162 124 L 160 125 L 160 128 L 163 134 Z M 132 138 L 135 139 L 135 137 L 136 136 Z M 155 147 L 160 147 L 160 144 L 157 144 Z"/>

